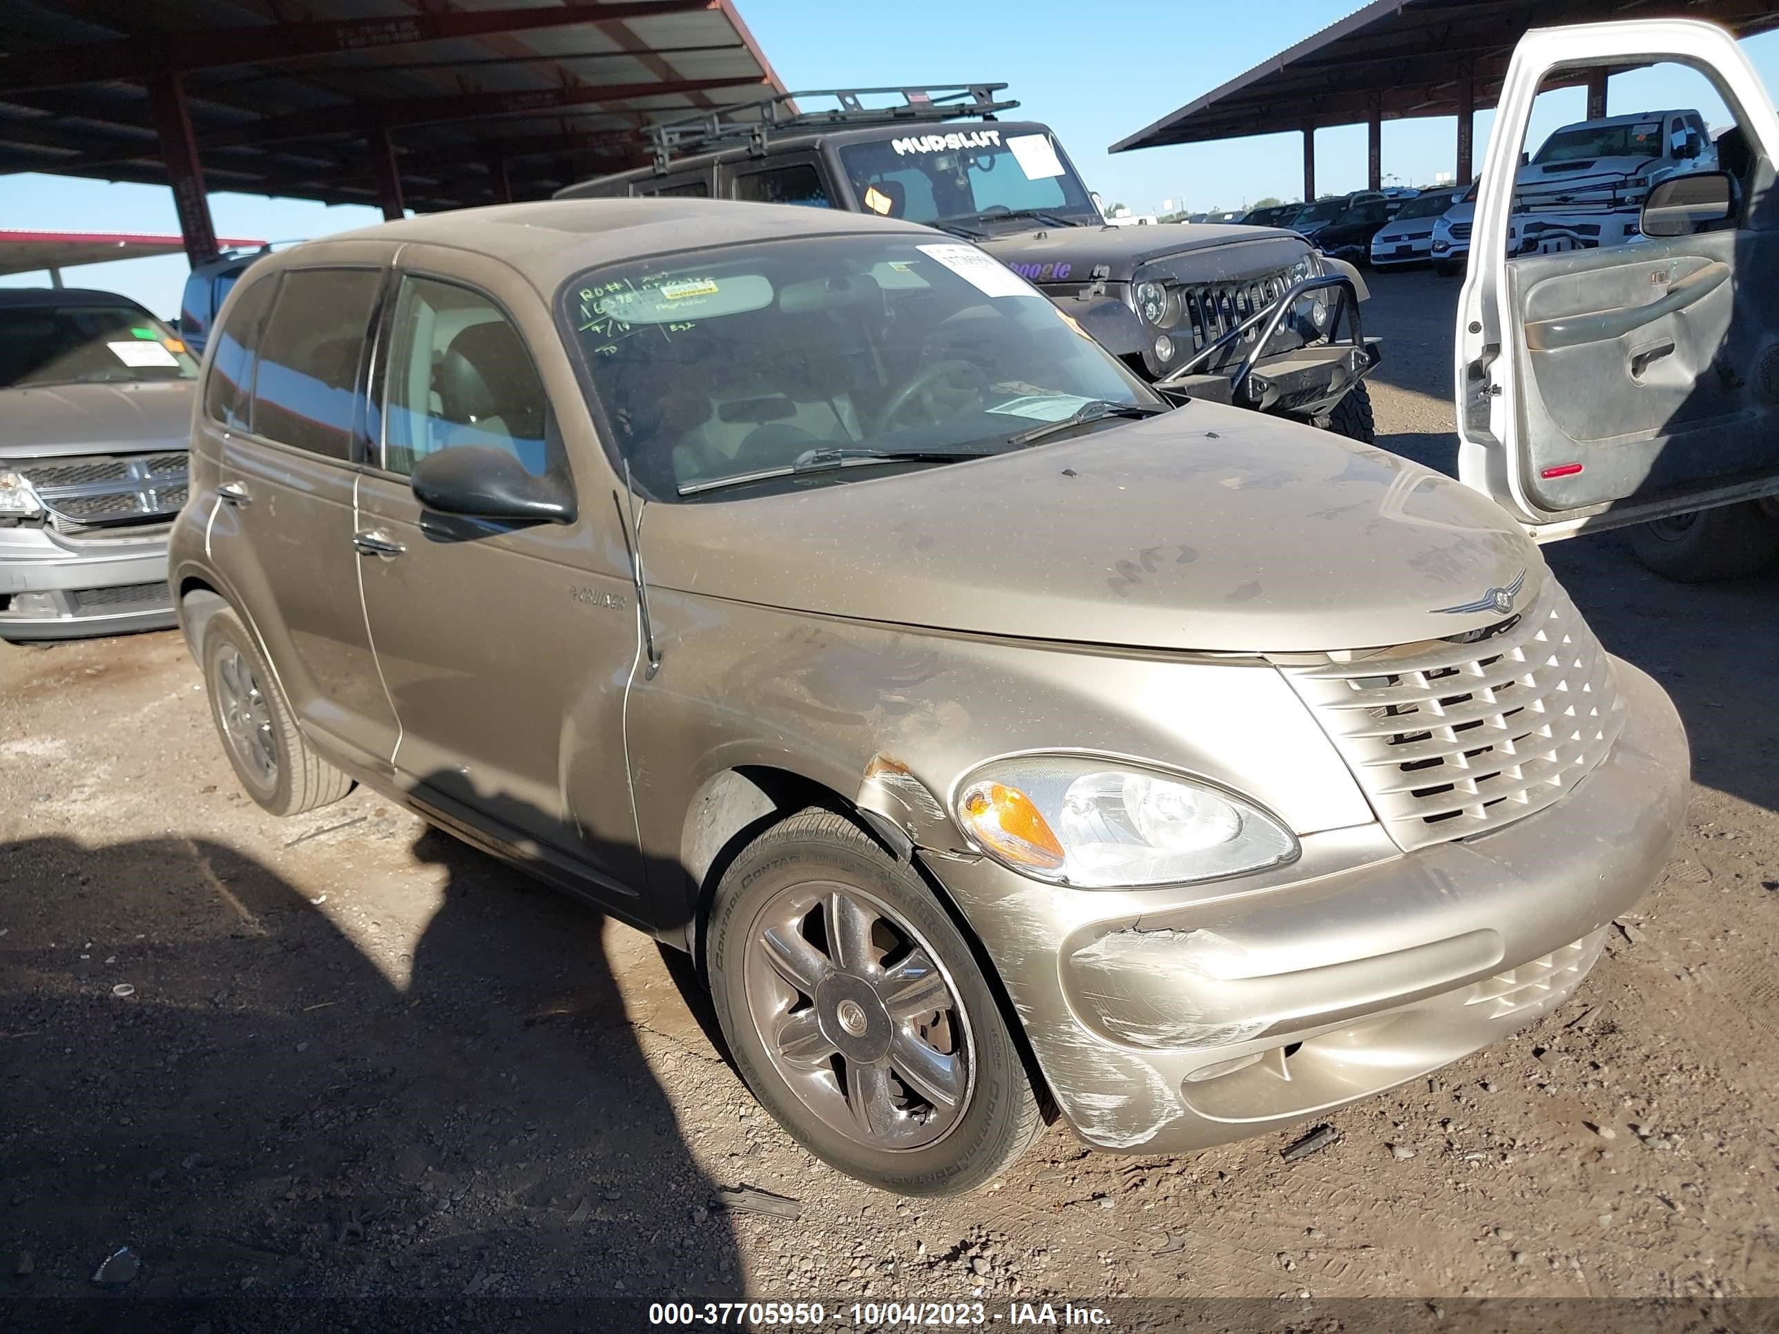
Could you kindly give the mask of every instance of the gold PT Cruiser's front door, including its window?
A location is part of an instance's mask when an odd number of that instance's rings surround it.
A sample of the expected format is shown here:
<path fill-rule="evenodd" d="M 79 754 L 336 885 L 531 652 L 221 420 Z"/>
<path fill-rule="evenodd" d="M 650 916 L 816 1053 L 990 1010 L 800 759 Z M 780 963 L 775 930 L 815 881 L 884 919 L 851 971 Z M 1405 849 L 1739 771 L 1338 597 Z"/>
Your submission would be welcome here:
<path fill-rule="evenodd" d="M 415 269 L 384 325 L 381 466 L 359 486 L 356 535 L 400 720 L 395 768 L 541 870 L 628 896 L 640 882 L 623 752 L 637 631 L 612 496 L 580 494 L 571 523 L 512 525 L 429 512 L 407 482 L 420 459 L 459 446 L 509 452 L 534 475 L 589 473 L 544 388 L 548 372 L 578 395 L 573 372 L 535 295 L 495 295 L 502 265 L 455 260 L 487 270 L 470 283 L 423 272 L 423 247 L 402 261 Z M 569 411 L 585 420 L 578 402 Z"/>

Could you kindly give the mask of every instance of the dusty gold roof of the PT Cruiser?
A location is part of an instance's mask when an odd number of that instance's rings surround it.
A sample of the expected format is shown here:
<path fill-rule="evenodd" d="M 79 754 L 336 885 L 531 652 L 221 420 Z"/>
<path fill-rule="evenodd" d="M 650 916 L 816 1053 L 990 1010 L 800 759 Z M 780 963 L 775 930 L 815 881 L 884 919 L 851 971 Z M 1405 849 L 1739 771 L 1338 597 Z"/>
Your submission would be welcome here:
<path fill-rule="evenodd" d="M 441 245 L 487 254 L 518 269 L 541 292 L 603 263 L 786 237 L 906 233 L 950 240 L 916 222 L 870 213 L 754 205 L 729 199 L 541 199 L 493 208 L 457 208 L 342 231 L 260 260 L 254 269 L 302 267 L 340 242 Z"/>

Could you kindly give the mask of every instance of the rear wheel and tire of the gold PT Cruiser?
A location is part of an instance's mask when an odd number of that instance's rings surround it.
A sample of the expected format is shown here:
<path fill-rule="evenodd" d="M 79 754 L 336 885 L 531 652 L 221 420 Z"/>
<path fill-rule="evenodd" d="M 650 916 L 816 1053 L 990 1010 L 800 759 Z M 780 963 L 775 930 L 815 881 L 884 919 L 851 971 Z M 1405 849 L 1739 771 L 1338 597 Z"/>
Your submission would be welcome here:
<path fill-rule="evenodd" d="M 233 608 L 205 621 L 205 694 L 235 777 L 272 815 L 302 815 L 352 790 L 352 779 L 322 759 L 297 731 L 272 676 Z"/>

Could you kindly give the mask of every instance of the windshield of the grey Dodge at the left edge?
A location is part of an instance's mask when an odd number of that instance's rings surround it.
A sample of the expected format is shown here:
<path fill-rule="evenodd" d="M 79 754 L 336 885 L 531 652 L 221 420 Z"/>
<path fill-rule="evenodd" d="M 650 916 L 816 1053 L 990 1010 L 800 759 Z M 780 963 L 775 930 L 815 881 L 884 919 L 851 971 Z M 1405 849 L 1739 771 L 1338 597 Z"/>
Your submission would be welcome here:
<path fill-rule="evenodd" d="M 196 379 L 167 325 L 135 306 L 0 309 L 0 390 Z"/>

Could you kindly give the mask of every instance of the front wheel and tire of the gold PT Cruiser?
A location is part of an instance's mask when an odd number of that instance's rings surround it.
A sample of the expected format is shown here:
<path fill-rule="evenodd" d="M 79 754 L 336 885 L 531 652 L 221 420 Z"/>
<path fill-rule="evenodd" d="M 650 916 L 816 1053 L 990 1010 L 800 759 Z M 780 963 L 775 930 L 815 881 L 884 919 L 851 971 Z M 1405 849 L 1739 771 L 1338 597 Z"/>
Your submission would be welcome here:
<path fill-rule="evenodd" d="M 850 820 L 811 808 L 754 840 L 724 872 L 704 939 L 747 1087 L 847 1176 L 961 1195 L 1044 1128 L 970 944 L 920 872 Z"/>

